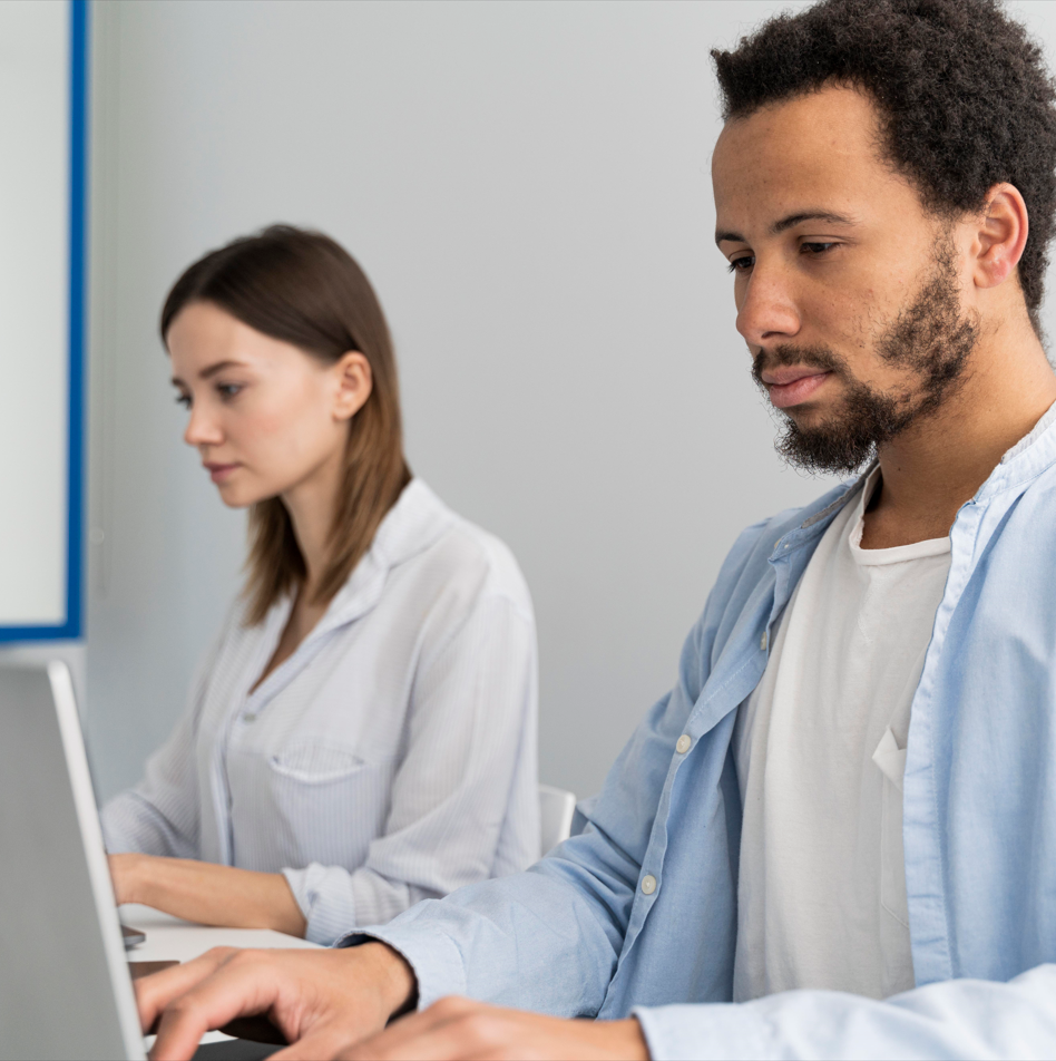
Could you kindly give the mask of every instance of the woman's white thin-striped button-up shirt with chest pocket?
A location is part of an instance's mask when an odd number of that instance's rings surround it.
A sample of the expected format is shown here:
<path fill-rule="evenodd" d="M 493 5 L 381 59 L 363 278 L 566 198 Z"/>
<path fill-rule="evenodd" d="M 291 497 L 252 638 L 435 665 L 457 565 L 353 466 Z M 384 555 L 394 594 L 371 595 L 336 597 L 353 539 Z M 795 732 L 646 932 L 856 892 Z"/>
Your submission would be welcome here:
<path fill-rule="evenodd" d="M 326 614 L 236 606 L 107 848 L 282 870 L 331 943 L 539 856 L 531 598 L 497 538 L 413 479 Z"/>

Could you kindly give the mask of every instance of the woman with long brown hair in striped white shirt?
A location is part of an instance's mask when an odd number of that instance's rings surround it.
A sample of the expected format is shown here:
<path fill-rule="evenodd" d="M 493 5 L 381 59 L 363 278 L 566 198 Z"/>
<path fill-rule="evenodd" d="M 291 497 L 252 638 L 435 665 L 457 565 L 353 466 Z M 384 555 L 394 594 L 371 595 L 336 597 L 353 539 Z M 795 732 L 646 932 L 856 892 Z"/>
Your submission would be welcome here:
<path fill-rule="evenodd" d="M 102 812 L 119 903 L 331 943 L 539 855 L 536 636 L 501 542 L 403 459 L 373 290 L 286 226 L 162 313 L 248 577 L 166 744 Z"/>

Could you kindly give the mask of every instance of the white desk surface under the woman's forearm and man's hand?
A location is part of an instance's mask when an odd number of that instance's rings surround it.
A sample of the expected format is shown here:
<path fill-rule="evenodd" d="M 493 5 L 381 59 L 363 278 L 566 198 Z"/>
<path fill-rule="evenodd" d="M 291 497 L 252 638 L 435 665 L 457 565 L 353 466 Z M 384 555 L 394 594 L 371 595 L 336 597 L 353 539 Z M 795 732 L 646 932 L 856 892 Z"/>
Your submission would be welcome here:
<path fill-rule="evenodd" d="M 146 942 L 128 951 L 129 962 L 189 962 L 209 947 L 310 947 L 320 950 L 317 943 L 309 943 L 297 936 L 287 936 L 271 928 L 213 928 L 180 921 L 170 914 L 149 906 L 129 903 L 118 907 L 121 922 L 146 933 Z M 148 1036 L 147 1045 L 153 1043 Z M 221 1047 L 231 1043 L 229 1048 Z M 242 1043 L 223 1032 L 207 1032 L 202 1039 L 196 1057 L 209 1059 L 257 1059 L 277 1050 L 277 1047 L 260 1048 L 256 1043 Z"/>

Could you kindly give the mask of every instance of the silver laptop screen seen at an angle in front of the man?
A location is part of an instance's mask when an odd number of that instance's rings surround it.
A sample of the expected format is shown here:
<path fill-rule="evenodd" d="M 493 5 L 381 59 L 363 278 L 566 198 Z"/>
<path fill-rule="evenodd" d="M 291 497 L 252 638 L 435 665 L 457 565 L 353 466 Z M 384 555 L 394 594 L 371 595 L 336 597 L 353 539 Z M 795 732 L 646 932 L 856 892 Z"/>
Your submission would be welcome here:
<path fill-rule="evenodd" d="M 0 1061 L 144 1057 L 69 671 L 0 666 Z"/>

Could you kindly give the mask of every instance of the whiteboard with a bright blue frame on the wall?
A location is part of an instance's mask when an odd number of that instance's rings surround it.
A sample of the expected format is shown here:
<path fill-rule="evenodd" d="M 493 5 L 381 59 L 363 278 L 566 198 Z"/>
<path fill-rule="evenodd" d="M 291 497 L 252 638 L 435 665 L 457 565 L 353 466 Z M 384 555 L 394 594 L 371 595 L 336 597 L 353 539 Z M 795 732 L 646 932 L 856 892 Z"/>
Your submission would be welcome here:
<path fill-rule="evenodd" d="M 80 634 L 86 18 L 0 3 L 0 641 Z"/>

